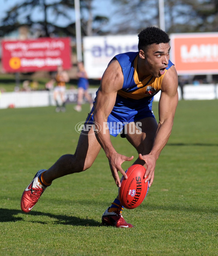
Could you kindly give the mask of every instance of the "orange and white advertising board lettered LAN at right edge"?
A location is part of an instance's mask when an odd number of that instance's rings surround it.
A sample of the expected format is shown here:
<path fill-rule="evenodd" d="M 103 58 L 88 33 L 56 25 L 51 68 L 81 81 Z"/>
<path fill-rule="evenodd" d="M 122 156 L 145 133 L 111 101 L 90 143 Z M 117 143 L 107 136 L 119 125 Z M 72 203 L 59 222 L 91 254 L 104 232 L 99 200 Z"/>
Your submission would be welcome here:
<path fill-rule="evenodd" d="M 170 60 L 177 73 L 218 74 L 218 33 L 171 34 Z"/>

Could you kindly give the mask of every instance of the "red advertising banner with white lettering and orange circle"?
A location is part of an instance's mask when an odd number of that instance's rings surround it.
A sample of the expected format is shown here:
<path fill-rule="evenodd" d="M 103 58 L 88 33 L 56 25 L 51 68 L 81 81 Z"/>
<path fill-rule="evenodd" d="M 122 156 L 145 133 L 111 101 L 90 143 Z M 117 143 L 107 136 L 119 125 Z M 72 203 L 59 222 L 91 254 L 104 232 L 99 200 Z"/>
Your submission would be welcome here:
<path fill-rule="evenodd" d="M 71 67 L 70 38 L 2 41 L 4 72 L 55 71 Z"/>

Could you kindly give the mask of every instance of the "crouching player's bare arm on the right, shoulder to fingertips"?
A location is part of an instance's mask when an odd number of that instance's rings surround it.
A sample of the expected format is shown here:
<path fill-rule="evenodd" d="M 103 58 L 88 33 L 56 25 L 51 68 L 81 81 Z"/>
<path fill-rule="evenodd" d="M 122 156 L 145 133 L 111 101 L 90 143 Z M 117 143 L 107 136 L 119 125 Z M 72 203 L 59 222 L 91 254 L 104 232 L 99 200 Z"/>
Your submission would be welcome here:
<path fill-rule="evenodd" d="M 139 155 L 140 159 L 146 162 L 147 168 L 145 182 L 149 182 L 149 187 L 152 185 L 154 180 L 154 169 L 156 161 L 165 147 L 172 127 L 175 115 L 175 110 L 178 104 L 178 76 L 175 67 L 172 66 L 163 78 L 161 86 L 161 97 L 159 101 L 159 123 L 154 139 L 153 147 L 148 155 Z"/>

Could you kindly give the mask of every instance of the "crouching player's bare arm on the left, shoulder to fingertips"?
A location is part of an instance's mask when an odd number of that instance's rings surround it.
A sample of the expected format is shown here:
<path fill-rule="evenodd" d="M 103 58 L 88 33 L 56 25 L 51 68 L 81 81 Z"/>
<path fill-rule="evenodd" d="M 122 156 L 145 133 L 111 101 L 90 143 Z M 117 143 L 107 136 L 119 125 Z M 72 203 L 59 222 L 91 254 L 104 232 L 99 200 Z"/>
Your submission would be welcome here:
<path fill-rule="evenodd" d="M 122 88 L 122 84 L 122 69 L 118 61 L 114 60 L 109 64 L 101 79 L 101 86 L 98 90 L 94 110 L 94 121 L 100 124 L 101 127 L 104 127 L 104 123 L 108 120 L 108 116 L 110 115 L 116 101 L 117 91 Z M 116 185 L 120 187 L 118 171 L 127 178 L 121 164 L 124 161 L 132 160 L 133 156 L 130 158 L 116 152 L 110 140 L 109 130 L 101 129 L 101 131 L 96 134 L 96 137 L 109 160 L 110 170 Z"/>

